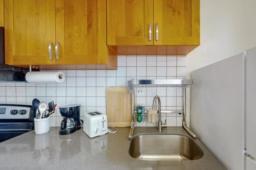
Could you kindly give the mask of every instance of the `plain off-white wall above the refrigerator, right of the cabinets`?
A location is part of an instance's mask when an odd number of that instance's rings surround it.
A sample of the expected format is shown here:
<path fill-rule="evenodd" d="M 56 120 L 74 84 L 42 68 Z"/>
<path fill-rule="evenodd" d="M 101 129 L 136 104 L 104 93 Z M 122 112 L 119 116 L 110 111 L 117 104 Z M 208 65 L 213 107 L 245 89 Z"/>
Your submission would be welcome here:
<path fill-rule="evenodd" d="M 187 71 L 256 46 L 255 0 L 201 0 L 201 45 L 187 55 Z"/>

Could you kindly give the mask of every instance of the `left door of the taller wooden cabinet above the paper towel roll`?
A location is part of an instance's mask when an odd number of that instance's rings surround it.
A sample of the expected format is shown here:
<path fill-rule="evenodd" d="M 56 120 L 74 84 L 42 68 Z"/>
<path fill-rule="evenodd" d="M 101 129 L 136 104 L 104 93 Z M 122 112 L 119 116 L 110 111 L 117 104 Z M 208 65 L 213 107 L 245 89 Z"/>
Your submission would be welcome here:
<path fill-rule="evenodd" d="M 55 2 L 52 0 L 6 0 L 5 61 L 7 64 L 54 64 L 49 44 L 55 42 Z"/>

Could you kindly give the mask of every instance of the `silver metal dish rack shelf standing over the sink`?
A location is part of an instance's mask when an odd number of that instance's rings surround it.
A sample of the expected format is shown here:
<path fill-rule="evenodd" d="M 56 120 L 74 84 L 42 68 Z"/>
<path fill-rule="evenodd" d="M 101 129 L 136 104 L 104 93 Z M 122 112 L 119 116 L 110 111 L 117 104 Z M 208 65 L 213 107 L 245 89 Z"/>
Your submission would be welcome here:
<path fill-rule="evenodd" d="M 197 136 L 193 133 L 188 127 L 186 123 L 186 88 L 190 87 L 193 84 L 193 80 L 191 79 L 169 79 L 169 80 L 137 80 L 132 79 L 127 81 L 129 87 L 129 93 L 132 94 L 132 124 L 131 130 L 129 133 L 129 139 L 132 139 L 135 123 L 137 122 L 135 114 L 134 106 L 135 106 L 135 88 L 140 87 L 182 87 L 183 92 L 183 110 L 172 110 L 172 111 L 161 111 L 162 113 L 181 113 L 182 114 L 182 127 L 194 138 Z M 157 113 L 159 114 L 159 113 Z M 167 117 L 167 116 L 165 116 Z M 147 122 L 147 114 L 145 114 L 145 122 Z M 166 119 L 165 119 L 166 121 Z M 157 120 L 156 120 L 157 122 Z"/>

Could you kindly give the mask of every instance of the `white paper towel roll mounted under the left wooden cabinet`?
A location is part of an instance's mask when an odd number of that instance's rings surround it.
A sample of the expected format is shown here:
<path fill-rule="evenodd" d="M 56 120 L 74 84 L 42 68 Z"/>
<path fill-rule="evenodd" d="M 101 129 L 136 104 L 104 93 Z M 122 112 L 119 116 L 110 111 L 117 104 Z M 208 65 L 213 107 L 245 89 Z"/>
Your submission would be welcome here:
<path fill-rule="evenodd" d="M 27 72 L 26 80 L 29 83 L 62 83 L 65 75 L 62 71 L 31 71 Z"/>

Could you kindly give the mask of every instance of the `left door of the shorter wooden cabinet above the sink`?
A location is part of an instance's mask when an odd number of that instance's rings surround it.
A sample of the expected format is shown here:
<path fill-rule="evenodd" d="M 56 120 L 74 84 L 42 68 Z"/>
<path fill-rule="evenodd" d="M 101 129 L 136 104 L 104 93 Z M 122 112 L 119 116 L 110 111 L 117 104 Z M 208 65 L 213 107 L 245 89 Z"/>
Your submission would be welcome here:
<path fill-rule="evenodd" d="M 107 35 L 108 45 L 153 45 L 153 0 L 107 0 Z"/>

